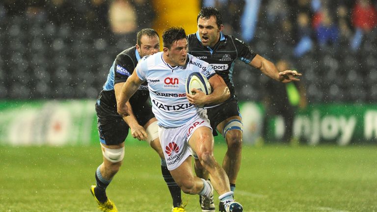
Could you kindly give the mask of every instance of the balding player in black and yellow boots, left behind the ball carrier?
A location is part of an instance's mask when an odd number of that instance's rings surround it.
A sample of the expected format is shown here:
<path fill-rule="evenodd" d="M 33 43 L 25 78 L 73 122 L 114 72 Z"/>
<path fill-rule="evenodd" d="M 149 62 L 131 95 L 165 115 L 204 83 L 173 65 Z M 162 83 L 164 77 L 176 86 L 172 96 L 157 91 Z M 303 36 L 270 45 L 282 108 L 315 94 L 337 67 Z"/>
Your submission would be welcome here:
<path fill-rule="evenodd" d="M 99 208 L 104 212 L 117 212 L 115 204 L 106 195 L 106 188 L 118 172 L 124 157 L 124 140 L 129 129 L 132 136 L 139 140 L 146 140 L 162 159 L 162 176 L 168 185 L 173 199 L 173 212 L 185 212 L 181 207 L 181 189 L 174 182 L 166 167 L 159 137 L 157 119 L 152 113 L 149 104 L 148 86 L 140 85 L 136 94 L 127 103 L 131 109 L 131 115 L 121 117 L 117 113 L 116 100 L 119 97 L 123 84 L 133 73 L 137 62 L 145 55 L 160 52 L 160 38 L 154 29 L 145 28 L 137 33 L 137 41 L 131 47 L 118 54 L 114 60 L 108 79 L 96 102 L 98 117 L 98 132 L 104 162 L 98 166 L 95 178 L 96 185 L 91 186 L 91 192 L 95 197 Z"/>

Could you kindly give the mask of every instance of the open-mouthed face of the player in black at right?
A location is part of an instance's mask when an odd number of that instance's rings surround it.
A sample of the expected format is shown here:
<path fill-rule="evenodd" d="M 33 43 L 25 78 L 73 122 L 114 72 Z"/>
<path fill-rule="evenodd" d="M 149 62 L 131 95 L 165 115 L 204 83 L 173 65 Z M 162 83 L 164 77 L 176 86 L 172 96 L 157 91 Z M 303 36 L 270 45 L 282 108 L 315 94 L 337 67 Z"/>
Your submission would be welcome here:
<path fill-rule="evenodd" d="M 209 19 L 198 19 L 198 32 L 202 44 L 206 47 L 214 47 L 220 38 L 220 31 L 222 26 L 217 27 L 215 16 L 211 16 Z"/>

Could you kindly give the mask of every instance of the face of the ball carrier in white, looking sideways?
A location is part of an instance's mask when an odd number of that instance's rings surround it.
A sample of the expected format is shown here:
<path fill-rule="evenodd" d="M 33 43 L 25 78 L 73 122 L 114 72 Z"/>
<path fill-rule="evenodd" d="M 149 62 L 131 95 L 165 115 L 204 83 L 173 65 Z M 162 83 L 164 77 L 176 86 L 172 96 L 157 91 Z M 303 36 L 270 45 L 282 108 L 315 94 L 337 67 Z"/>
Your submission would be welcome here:
<path fill-rule="evenodd" d="M 172 43 L 168 52 L 169 64 L 172 66 L 184 66 L 187 60 L 188 42 L 181 39 Z"/>

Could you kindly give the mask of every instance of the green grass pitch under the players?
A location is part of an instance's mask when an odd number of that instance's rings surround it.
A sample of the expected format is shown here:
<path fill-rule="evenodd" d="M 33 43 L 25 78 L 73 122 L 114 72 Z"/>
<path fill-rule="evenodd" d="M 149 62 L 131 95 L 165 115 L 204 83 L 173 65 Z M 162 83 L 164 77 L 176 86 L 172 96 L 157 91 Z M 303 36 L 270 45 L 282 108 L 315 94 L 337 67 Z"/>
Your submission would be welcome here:
<path fill-rule="evenodd" d="M 97 146 L 1 146 L 0 212 L 97 212 L 89 187 L 101 157 Z M 108 196 L 120 212 L 169 212 L 157 154 L 127 146 Z M 200 211 L 197 196 L 185 198 Z M 377 147 L 244 147 L 236 199 L 245 212 L 377 211 Z"/>

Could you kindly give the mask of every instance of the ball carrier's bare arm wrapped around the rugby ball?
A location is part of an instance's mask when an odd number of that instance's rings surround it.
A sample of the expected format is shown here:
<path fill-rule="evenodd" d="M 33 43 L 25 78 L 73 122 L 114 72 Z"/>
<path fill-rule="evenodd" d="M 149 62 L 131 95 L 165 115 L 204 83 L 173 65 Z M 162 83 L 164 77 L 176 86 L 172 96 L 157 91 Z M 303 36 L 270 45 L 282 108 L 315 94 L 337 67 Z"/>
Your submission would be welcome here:
<path fill-rule="evenodd" d="M 215 74 L 210 79 L 211 87 L 213 91 L 210 95 L 206 95 L 198 89 L 193 89 L 196 94 L 187 95 L 188 102 L 194 105 L 209 105 L 209 104 L 218 104 L 222 103 L 230 97 L 230 92 L 228 86 L 226 86 L 224 79 L 219 75 Z"/>

